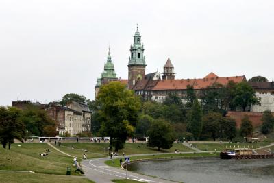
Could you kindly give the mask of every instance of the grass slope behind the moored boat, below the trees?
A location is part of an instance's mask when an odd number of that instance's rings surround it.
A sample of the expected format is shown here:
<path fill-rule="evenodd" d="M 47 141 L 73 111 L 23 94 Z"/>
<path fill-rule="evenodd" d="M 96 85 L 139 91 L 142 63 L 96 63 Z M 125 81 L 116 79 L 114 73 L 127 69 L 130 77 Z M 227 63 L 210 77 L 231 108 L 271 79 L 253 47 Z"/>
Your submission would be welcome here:
<path fill-rule="evenodd" d="M 218 143 L 193 143 L 194 147 L 201 149 L 202 151 L 222 151 L 223 148 L 252 148 L 256 149 L 258 147 L 263 147 L 269 145 L 269 143 L 229 143 L 229 144 L 218 144 Z"/>

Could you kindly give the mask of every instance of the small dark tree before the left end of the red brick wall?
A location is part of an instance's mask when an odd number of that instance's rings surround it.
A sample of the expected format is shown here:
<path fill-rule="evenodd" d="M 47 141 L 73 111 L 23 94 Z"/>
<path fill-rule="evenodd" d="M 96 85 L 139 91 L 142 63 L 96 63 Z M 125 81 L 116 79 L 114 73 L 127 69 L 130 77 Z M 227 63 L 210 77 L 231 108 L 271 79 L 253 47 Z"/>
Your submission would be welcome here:
<path fill-rule="evenodd" d="M 220 126 L 221 137 L 232 141 L 236 137 L 236 121 L 230 117 L 225 117 Z"/>

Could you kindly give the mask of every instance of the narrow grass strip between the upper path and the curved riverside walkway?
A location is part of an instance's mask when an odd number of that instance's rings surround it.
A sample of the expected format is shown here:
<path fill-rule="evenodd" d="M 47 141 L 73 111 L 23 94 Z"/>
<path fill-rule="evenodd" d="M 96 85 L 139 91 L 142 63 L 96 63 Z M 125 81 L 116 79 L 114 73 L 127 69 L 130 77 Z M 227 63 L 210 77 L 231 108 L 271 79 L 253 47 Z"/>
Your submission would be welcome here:
<path fill-rule="evenodd" d="M 153 159 L 162 159 L 162 158 L 201 158 L 201 157 L 218 157 L 219 154 L 211 153 L 188 153 L 188 154 L 157 154 L 157 155 L 147 155 L 147 156 L 132 156 L 130 157 L 131 161 L 134 160 L 153 160 Z M 123 158 L 122 158 L 123 159 Z M 105 164 L 111 167 L 120 167 L 119 158 L 113 160 L 105 161 Z M 123 160 L 124 161 L 124 160 Z"/>

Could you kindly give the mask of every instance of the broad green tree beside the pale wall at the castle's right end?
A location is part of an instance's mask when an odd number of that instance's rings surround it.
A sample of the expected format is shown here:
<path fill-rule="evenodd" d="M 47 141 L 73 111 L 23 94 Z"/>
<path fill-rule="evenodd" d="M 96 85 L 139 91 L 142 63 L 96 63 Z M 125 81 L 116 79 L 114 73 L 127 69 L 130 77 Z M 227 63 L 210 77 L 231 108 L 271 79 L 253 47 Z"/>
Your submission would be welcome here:
<path fill-rule="evenodd" d="M 245 111 L 247 106 L 260 104 L 256 91 L 247 82 L 236 85 L 233 102 L 235 106 L 241 107 L 242 111 Z"/>

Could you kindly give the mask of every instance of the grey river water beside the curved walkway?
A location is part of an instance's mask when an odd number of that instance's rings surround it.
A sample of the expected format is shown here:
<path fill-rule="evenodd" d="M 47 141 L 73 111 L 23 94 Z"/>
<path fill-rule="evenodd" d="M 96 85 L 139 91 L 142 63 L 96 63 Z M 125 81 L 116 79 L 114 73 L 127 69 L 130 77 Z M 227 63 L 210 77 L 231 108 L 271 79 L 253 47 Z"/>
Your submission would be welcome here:
<path fill-rule="evenodd" d="M 179 159 L 130 164 L 129 171 L 185 183 L 274 183 L 274 159 Z"/>

